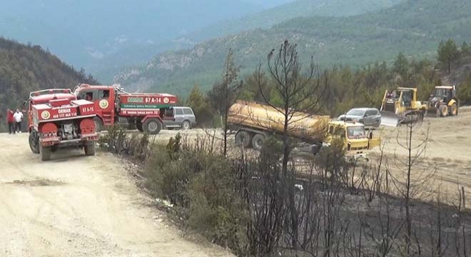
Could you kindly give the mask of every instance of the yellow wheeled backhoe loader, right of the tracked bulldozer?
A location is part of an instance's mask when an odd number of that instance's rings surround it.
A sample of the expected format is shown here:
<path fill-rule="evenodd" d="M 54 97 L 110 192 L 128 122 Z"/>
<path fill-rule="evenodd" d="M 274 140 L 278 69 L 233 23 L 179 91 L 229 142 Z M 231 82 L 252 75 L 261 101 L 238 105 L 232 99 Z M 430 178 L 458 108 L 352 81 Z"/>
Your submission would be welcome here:
<path fill-rule="evenodd" d="M 457 116 L 459 107 L 455 86 L 435 86 L 427 102 L 429 114 L 435 113 L 437 117 Z"/>

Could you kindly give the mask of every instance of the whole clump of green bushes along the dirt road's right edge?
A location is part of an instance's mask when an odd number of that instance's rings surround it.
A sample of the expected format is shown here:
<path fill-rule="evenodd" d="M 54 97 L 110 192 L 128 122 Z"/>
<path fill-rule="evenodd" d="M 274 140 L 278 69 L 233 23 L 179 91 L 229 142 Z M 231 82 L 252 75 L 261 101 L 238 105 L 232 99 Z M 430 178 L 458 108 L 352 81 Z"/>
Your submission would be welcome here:
<path fill-rule="evenodd" d="M 237 166 L 211 153 L 208 140 L 193 144 L 180 135 L 153 151 L 146 167 L 148 188 L 173 205 L 186 225 L 213 243 L 242 252 L 245 208 L 238 195 Z"/>

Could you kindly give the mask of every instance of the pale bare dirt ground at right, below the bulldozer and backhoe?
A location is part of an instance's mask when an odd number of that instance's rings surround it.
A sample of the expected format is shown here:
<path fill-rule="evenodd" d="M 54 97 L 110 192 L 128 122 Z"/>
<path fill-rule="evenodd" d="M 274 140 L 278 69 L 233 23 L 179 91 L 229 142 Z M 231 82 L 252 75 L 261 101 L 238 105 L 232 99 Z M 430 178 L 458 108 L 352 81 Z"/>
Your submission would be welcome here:
<path fill-rule="evenodd" d="M 412 145 L 417 146 L 424 138 L 422 134 L 429 130 L 425 163 L 429 170 L 430 167 L 436 168 L 433 184 L 430 185 L 433 188 L 430 189 L 440 188 L 441 193 L 457 196 L 458 188 L 464 187 L 467 196 L 471 196 L 471 108 L 460 109 L 458 116 L 430 117 L 424 121 L 420 130 L 412 136 Z M 399 131 L 404 132 L 405 129 Z M 404 161 L 407 151 L 397 143 L 397 129 L 385 127 L 381 133 L 391 166 L 394 156 Z"/>

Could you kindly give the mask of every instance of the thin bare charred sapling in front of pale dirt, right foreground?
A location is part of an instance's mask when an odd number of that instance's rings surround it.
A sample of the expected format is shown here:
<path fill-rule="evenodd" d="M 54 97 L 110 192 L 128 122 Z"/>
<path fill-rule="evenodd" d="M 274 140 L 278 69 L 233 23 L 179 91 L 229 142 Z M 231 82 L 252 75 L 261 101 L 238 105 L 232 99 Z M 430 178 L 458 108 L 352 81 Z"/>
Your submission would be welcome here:
<path fill-rule="evenodd" d="M 428 124 L 412 121 L 397 129 L 396 141 L 400 152 L 395 153 L 395 171 L 390 172 L 396 192 L 404 201 L 405 208 L 405 251 L 410 256 L 412 246 L 412 204 L 413 198 L 430 194 L 430 180 L 435 174 L 435 166 L 426 161 L 429 135 Z"/>

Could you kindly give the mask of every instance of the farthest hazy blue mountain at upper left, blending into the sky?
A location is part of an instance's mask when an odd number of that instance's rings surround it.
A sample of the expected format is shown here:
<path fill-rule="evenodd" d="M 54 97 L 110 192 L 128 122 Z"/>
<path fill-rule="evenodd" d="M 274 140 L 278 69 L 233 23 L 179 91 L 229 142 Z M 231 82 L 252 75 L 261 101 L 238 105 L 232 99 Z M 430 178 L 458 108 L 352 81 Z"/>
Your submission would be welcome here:
<path fill-rule="evenodd" d="M 253 1 L 1 1 L 0 36 L 34 42 L 75 67 L 87 67 L 120 49 L 158 48 L 162 42 L 216 21 L 265 9 Z"/>

